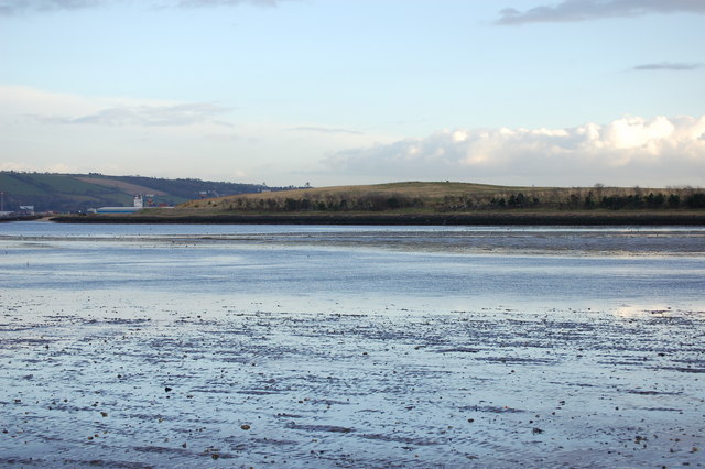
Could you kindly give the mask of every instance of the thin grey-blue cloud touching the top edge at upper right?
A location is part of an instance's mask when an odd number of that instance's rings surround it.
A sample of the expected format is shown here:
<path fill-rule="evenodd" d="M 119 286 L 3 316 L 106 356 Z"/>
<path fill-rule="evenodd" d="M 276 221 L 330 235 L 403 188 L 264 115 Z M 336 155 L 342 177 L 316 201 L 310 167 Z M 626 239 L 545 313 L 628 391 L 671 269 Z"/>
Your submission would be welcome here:
<path fill-rule="evenodd" d="M 506 8 L 499 12 L 497 24 L 520 25 L 590 21 L 605 18 L 640 17 L 649 13 L 705 14 L 705 2 L 699 0 L 564 0 L 527 11 Z"/>

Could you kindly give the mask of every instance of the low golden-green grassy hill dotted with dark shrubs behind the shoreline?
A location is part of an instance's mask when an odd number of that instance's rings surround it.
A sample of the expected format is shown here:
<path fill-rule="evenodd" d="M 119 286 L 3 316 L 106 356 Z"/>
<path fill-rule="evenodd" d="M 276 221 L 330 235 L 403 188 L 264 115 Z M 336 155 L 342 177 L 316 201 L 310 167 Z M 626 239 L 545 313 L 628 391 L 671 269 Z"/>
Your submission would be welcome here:
<path fill-rule="evenodd" d="M 693 188 L 517 187 L 409 182 L 305 188 L 193 200 L 181 212 L 468 212 L 478 210 L 699 209 Z"/>

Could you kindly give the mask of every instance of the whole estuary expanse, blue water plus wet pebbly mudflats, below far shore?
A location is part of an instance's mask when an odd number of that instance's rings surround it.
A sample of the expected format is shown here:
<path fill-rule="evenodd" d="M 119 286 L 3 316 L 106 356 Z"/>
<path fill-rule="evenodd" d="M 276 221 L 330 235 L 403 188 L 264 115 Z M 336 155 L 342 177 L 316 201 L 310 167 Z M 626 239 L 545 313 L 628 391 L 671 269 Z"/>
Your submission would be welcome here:
<path fill-rule="evenodd" d="M 0 463 L 705 461 L 705 229 L 0 223 Z"/>

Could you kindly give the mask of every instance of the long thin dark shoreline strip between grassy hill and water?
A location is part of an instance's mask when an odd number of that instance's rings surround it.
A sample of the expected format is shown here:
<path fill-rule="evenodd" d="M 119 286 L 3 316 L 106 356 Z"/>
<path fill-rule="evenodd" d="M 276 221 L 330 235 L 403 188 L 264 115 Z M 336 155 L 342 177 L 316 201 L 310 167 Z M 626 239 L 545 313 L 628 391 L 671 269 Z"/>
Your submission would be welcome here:
<path fill-rule="evenodd" d="M 367 225 L 367 226 L 705 226 L 703 214 L 553 212 L 553 214 L 332 214 L 332 215 L 107 215 L 59 216 L 58 223 L 185 225 Z"/>

